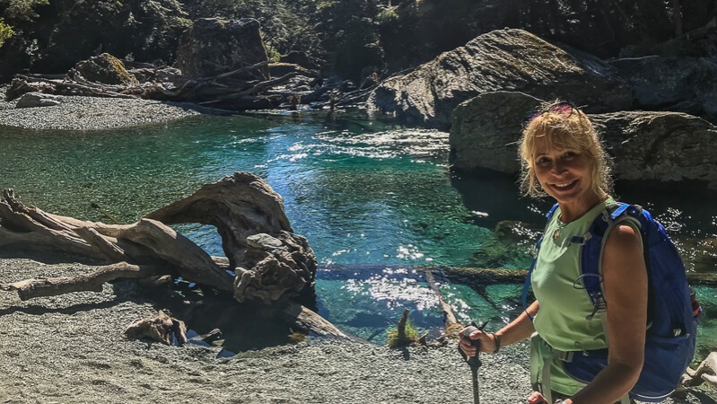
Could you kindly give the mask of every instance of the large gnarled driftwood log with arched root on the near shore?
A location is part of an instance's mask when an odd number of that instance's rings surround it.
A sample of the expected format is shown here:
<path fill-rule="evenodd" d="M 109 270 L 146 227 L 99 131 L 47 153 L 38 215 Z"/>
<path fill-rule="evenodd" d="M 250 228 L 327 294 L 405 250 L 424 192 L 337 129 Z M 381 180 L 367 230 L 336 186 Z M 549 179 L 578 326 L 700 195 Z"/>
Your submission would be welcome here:
<path fill-rule="evenodd" d="M 214 225 L 227 258 L 211 257 L 167 224 Z M 59 250 L 107 265 L 77 277 L 0 284 L 22 300 L 99 291 L 118 278 L 179 275 L 239 302 L 275 305 L 291 326 L 349 338 L 298 302 L 313 296 L 316 257 L 294 234 L 281 196 L 256 175 L 236 172 L 193 195 L 145 215 L 135 224 L 102 224 L 24 206 L 12 189 L 0 200 L 0 248 Z"/>

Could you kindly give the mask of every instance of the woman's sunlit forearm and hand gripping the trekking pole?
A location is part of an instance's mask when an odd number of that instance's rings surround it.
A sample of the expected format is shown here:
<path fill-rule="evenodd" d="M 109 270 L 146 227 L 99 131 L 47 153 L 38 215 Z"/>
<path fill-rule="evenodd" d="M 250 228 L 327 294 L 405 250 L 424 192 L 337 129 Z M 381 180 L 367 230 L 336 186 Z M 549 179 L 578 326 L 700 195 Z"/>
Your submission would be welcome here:
<path fill-rule="evenodd" d="M 526 312 L 530 313 L 531 316 L 535 316 L 538 312 L 538 308 L 538 301 L 536 301 L 529 305 Z M 520 316 L 511 321 L 510 324 L 495 332 L 495 338 L 501 340 L 501 347 L 507 347 L 516 342 L 520 342 L 523 339 L 529 338 L 530 335 L 535 332 L 533 321 L 530 320 L 526 312 L 520 313 Z M 480 341 L 481 352 L 494 352 L 496 349 L 495 339 L 491 334 L 480 330 L 473 331 L 470 334 L 470 339 Z M 476 356 L 476 347 L 472 346 L 470 341 L 463 337 L 462 331 L 460 333 L 460 349 L 468 356 Z"/>

